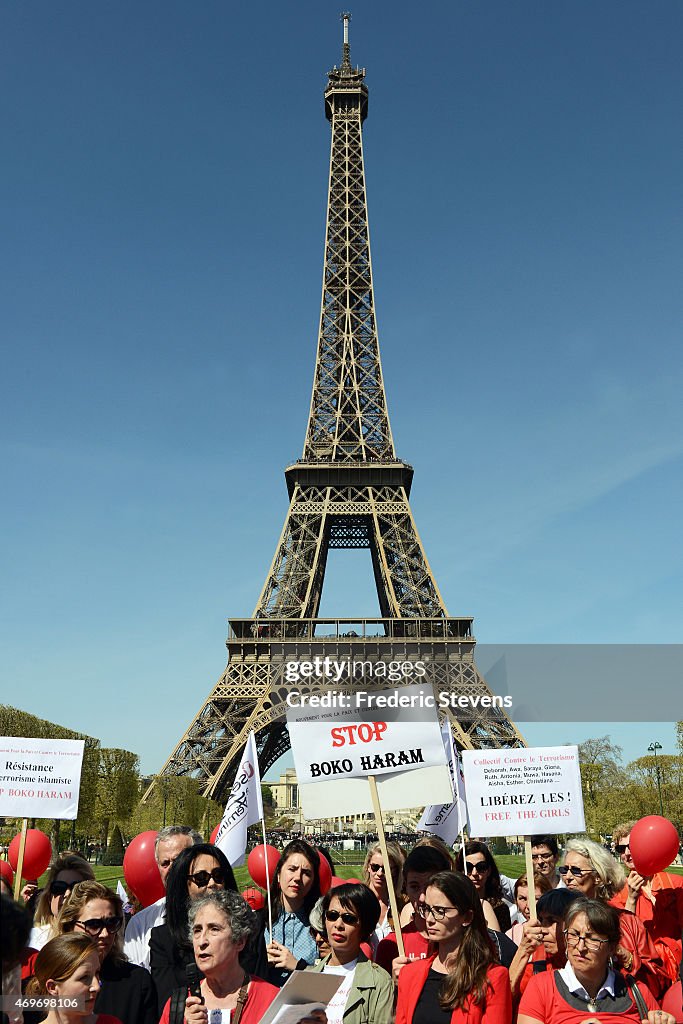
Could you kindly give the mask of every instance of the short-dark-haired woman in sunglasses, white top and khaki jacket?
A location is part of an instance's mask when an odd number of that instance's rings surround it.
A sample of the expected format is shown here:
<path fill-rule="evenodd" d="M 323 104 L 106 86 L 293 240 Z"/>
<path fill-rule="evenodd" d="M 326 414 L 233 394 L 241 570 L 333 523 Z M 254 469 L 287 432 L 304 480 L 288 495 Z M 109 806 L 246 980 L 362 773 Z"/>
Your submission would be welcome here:
<path fill-rule="evenodd" d="M 326 1008 L 328 1024 L 390 1024 L 391 978 L 360 949 L 360 943 L 375 931 L 379 915 L 377 896 L 359 882 L 337 886 L 323 898 L 330 952 L 307 970 L 343 978 Z"/>

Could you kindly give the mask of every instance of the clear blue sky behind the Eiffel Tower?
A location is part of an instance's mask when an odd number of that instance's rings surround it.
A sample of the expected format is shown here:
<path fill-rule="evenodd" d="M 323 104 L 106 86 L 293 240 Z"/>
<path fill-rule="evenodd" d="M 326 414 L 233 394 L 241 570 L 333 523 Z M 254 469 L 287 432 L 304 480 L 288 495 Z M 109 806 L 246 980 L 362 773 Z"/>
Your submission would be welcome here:
<path fill-rule="evenodd" d="M 3 20 L 3 699 L 155 770 L 301 454 L 339 7 Z M 486 643 L 683 643 L 682 30 L 678 0 L 353 9 L 394 438 Z M 376 611 L 365 554 L 328 613 Z"/>

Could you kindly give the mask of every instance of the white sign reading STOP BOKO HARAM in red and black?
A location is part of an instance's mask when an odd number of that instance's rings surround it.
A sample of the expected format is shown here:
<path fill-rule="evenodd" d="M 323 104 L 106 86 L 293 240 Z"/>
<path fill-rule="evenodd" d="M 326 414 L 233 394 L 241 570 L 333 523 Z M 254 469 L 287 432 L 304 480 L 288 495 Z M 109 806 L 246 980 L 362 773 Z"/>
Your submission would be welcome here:
<path fill-rule="evenodd" d="M 420 700 L 424 690 L 431 693 L 431 687 L 401 686 L 400 695 L 415 699 L 374 701 L 362 711 L 291 708 L 287 725 L 299 784 L 443 765 L 436 711 Z"/>

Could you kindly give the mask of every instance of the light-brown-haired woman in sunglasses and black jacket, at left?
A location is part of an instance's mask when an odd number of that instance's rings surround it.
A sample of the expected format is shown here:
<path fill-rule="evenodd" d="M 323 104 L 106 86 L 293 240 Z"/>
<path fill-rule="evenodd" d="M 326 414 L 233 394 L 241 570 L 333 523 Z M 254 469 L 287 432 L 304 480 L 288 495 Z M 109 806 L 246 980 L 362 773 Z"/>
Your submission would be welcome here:
<path fill-rule="evenodd" d="M 101 988 L 96 1013 L 111 1014 L 124 1024 L 156 1024 L 154 982 L 144 968 L 126 959 L 123 906 L 112 889 L 100 882 L 79 882 L 59 911 L 57 929 L 61 935 L 85 935 L 97 950 Z M 38 959 L 35 973 L 37 965 Z"/>

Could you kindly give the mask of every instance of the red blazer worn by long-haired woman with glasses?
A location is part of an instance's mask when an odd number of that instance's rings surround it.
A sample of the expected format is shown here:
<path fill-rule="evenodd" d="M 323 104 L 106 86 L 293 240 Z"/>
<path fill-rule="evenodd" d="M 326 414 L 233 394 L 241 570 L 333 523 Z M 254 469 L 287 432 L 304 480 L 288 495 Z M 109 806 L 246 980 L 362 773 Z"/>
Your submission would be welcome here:
<path fill-rule="evenodd" d="M 413 961 L 401 968 L 398 975 L 398 1002 L 396 1024 L 412 1024 L 429 969 L 436 955 Z M 454 1010 L 451 1024 L 511 1024 L 512 994 L 508 969 L 494 964 L 486 973 L 489 987 L 482 1002 L 468 998 L 462 1010 Z"/>

